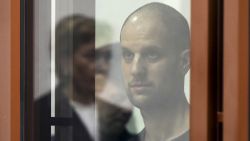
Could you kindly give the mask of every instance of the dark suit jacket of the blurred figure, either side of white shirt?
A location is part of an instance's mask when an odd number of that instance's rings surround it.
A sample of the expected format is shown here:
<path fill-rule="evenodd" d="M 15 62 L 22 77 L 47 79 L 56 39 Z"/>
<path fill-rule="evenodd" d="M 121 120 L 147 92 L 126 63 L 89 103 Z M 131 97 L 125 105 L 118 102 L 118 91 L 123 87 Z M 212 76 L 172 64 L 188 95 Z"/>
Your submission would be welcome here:
<path fill-rule="evenodd" d="M 125 129 L 130 111 L 104 101 L 98 101 L 98 103 L 101 108 L 98 110 L 101 115 L 100 140 L 127 141 L 131 138 Z M 62 94 L 60 87 L 56 89 L 56 118 L 51 118 L 50 93 L 35 102 L 35 141 L 51 141 L 51 125 L 57 125 L 53 141 L 93 141 L 86 126 L 69 104 L 68 98 Z"/>

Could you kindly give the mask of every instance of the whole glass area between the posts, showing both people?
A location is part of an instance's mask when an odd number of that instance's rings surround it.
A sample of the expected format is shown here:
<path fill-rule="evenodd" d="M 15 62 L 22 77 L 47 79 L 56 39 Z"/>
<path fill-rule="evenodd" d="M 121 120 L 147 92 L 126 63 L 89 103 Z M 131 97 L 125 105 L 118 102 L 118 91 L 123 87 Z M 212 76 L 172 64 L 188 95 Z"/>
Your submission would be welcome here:
<path fill-rule="evenodd" d="M 189 25 L 190 1 L 34 1 L 34 140 L 188 140 Z"/>

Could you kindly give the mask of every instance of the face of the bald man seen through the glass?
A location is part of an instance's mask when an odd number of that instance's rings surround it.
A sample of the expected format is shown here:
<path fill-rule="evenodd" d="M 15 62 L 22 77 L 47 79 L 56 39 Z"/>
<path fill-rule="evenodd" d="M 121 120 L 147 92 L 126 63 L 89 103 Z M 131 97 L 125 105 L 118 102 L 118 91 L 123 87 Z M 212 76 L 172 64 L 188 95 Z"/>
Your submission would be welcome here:
<path fill-rule="evenodd" d="M 125 86 L 131 102 L 138 107 L 152 107 L 174 98 L 170 94 L 180 75 L 178 55 L 167 29 L 152 21 L 127 23 L 121 32 Z"/>

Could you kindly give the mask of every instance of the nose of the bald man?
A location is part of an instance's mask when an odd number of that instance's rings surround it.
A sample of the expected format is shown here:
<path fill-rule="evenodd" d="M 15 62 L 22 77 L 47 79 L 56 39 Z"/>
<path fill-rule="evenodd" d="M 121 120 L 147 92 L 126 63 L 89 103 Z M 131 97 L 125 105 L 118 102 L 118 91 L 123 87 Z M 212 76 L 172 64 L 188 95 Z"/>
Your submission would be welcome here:
<path fill-rule="evenodd" d="M 146 66 L 145 61 L 141 57 L 135 57 L 132 68 L 131 68 L 131 74 L 135 77 L 144 76 L 146 73 Z"/>

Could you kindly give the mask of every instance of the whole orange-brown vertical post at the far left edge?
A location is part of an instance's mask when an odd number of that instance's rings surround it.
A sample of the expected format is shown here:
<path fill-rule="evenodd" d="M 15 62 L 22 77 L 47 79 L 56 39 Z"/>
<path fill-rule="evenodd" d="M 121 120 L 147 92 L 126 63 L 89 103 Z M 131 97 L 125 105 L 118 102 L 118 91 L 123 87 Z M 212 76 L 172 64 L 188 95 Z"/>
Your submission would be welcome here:
<path fill-rule="evenodd" d="M 0 1 L 0 140 L 20 140 L 20 1 Z"/>

